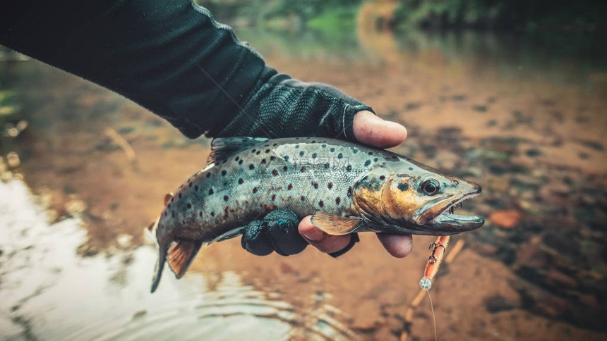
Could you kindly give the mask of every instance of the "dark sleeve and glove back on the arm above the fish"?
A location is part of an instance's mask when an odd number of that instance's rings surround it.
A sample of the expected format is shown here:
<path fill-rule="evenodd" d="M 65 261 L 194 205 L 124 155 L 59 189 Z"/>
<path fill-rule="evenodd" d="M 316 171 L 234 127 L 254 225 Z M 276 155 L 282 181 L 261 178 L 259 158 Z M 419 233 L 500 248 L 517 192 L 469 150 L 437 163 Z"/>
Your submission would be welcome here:
<path fill-rule="evenodd" d="M 354 140 L 370 110 L 327 85 L 265 66 L 230 27 L 190 0 L 11 1 L 0 44 L 117 92 L 194 138 Z"/>

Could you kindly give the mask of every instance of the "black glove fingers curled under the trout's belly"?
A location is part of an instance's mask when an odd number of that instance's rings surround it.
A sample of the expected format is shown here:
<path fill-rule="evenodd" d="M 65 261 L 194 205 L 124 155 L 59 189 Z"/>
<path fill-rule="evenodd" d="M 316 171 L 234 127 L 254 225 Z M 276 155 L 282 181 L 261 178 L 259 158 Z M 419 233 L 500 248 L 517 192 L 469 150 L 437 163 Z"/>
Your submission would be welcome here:
<path fill-rule="evenodd" d="M 299 235 L 298 225 L 299 218 L 293 211 L 277 209 L 263 219 L 246 225 L 241 239 L 242 247 L 257 256 L 267 256 L 272 251 L 281 256 L 299 254 L 306 249 L 308 242 Z M 330 256 L 341 256 L 358 241 L 359 236 L 354 233 L 347 247 L 333 252 Z"/>

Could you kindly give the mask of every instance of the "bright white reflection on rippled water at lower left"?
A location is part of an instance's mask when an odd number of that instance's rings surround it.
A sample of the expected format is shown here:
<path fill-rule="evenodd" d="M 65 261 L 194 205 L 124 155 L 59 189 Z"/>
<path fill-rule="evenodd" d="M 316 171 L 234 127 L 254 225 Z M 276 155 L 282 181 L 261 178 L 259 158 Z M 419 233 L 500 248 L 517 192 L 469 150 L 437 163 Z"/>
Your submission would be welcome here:
<path fill-rule="evenodd" d="M 154 247 L 112 256 L 76 256 L 78 218 L 47 224 L 18 180 L 0 182 L 0 330 L 3 339 L 339 340 L 354 333 L 335 308 L 306 311 L 220 274 L 210 292 L 202 275 L 163 283 L 150 295 Z"/>

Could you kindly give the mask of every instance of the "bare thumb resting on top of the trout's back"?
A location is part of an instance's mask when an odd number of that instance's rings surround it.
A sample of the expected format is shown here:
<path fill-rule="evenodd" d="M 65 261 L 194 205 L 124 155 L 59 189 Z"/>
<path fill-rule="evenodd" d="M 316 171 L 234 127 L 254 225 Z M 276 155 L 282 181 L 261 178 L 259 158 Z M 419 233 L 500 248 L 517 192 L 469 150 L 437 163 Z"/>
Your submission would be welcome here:
<path fill-rule="evenodd" d="M 407 138 L 407 129 L 404 126 L 383 120 L 366 110 L 354 115 L 352 128 L 356 140 L 374 147 L 395 147 Z"/>

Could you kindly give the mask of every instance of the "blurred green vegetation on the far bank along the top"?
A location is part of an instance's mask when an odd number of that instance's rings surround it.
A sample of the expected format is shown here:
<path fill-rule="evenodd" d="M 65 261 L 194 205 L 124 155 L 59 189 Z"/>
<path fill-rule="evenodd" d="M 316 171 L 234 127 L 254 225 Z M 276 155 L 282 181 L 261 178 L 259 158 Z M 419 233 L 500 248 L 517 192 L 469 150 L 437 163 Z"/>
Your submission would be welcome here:
<path fill-rule="evenodd" d="M 474 28 L 498 30 L 595 31 L 605 30 L 602 20 L 607 1 L 553 0 L 197 0 L 220 20 L 235 26 L 275 29 L 346 30 L 356 25 L 361 5 L 378 9 L 373 20 L 388 27 Z M 380 11 L 394 4 L 393 13 Z M 385 16 L 387 16 L 385 18 Z"/>

